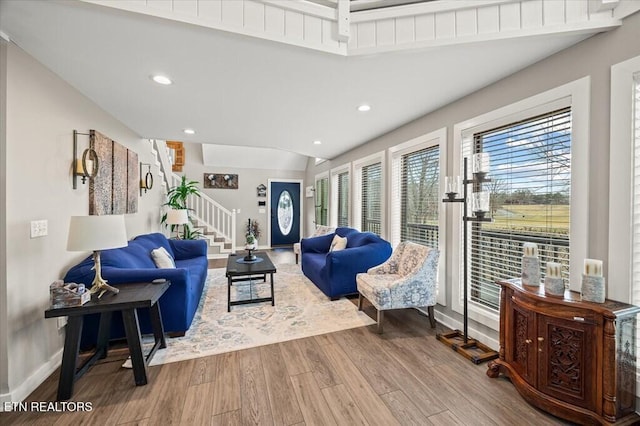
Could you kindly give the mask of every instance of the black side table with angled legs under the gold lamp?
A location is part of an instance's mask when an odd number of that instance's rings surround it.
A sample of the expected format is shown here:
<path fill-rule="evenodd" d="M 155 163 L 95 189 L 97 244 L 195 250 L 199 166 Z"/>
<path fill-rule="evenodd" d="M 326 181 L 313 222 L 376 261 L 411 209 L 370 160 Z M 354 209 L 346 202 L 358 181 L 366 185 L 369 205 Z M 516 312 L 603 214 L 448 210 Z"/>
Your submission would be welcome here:
<path fill-rule="evenodd" d="M 45 318 L 69 317 L 64 339 L 64 352 L 62 354 L 62 367 L 60 370 L 60 382 L 58 383 L 58 400 L 67 400 L 73 395 L 73 386 L 98 359 L 107 356 L 109 346 L 109 331 L 111 327 L 111 315 L 113 312 L 122 312 L 127 344 L 131 355 L 133 377 L 136 386 L 147 384 L 147 365 L 158 348 L 165 348 L 164 326 L 160 306 L 157 303 L 160 296 L 171 285 L 170 281 L 159 284 L 140 283 L 123 284 L 118 286 L 120 293 L 106 293 L 101 299 L 95 295 L 91 301 L 82 306 L 68 308 L 51 308 L 44 312 Z M 155 344 L 148 354 L 142 353 L 142 339 L 140 336 L 140 324 L 138 323 L 139 308 L 149 308 L 151 325 Z M 82 335 L 83 317 L 88 314 L 100 314 L 98 328 L 98 342 L 95 353 L 76 370 L 78 352 L 80 350 L 80 336 Z"/>

